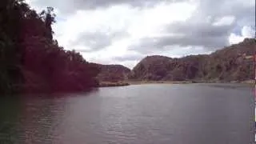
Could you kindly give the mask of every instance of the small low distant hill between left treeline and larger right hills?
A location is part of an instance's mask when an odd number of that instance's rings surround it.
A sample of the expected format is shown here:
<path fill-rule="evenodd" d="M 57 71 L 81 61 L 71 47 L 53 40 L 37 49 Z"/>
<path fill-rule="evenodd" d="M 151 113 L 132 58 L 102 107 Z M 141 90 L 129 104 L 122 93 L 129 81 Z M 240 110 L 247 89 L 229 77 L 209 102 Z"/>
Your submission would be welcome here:
<path fill-rule="evenodd" d="M 102 65 L 96 64 L 100 73 L 97 78 L 99 82 L 120 82 L 127 79 L 130 69 L 122 65 Z"/>

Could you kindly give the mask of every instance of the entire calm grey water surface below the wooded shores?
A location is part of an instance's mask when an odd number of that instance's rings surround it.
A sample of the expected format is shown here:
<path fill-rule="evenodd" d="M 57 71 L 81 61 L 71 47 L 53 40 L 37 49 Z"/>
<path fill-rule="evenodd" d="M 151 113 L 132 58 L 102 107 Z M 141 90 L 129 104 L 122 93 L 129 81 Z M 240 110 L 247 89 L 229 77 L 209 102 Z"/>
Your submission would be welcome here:
<path fill-rule="evenodd" d="M 0 98 L 0 143 L 250 144 L 253 87 L 149 84 Z"/>

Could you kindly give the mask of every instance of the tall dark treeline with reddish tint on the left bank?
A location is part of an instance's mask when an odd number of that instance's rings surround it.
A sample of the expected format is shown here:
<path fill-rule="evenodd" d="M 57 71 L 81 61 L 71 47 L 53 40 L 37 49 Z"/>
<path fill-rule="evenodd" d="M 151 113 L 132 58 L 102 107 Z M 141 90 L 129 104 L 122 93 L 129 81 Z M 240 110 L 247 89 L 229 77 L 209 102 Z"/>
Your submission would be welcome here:
<path fill-rule="evenodd" d="M 66 92 L 98 86 L 97 66 L 53 38 L 54 9 L 0 2 L 0 93 Z"/>

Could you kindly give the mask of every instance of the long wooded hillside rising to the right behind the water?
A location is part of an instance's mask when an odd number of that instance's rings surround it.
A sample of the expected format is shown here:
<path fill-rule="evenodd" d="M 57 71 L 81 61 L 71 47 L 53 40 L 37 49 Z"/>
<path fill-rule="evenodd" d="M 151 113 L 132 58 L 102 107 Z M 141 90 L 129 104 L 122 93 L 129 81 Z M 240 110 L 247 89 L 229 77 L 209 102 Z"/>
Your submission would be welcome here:
<path fill-rule="evenodd" d="M 254 79 L 253 59 L 255 39 L 246 38 L 233 46 L 206 55 L 190 55 L 184 58 L 147 56 L 134 67 L 131 80 L 230 82 Z"/>

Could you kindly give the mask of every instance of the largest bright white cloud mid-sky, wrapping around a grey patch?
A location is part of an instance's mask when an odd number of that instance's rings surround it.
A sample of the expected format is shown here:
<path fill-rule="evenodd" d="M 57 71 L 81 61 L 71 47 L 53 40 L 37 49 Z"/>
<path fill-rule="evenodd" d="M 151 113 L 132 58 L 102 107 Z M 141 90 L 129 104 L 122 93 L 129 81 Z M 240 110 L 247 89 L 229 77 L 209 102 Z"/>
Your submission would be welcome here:
<path fill-rule="evenodd" d="M 128 54 L 127 47 L 138 38 L 161 35 L 163 26 L 171 22 L 186 21 L 195 7 L 190 3 L 179 2 L 169 5 L 161 3 L 148 9 L 120 5 L 99 10 L 78 10 L 75 14 L 66 17 L 66 21 L 55 24 L 54 31 L 58 43 L 66 50 L 90 49 L 85 45 L 71 44 L 82 33 L 107 34 L 120 30 L 127 32 L 128 35 L 125 38 L 112 42 L 110 46 L 98 52 L 82 54 L 88 60 L 100 59 L 98 62 L 109 63 L 110 60 L 106 61 L 106 59 Z"/>

